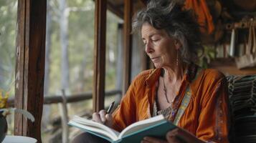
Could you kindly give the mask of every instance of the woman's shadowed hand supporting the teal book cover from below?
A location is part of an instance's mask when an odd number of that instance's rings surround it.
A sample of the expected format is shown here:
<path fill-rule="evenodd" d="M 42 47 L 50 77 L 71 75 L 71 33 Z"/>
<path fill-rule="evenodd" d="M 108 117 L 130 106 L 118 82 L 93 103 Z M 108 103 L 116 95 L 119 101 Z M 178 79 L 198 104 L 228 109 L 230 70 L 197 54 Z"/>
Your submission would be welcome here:
<path fill-rule="evenodd" d="M 166 140 L 154 137 L 144 137 L 141 143 L 204 143 L 197 139 L 193 134 L 186 132 L 184 129 L 173 129 L 166 134 Z"/>

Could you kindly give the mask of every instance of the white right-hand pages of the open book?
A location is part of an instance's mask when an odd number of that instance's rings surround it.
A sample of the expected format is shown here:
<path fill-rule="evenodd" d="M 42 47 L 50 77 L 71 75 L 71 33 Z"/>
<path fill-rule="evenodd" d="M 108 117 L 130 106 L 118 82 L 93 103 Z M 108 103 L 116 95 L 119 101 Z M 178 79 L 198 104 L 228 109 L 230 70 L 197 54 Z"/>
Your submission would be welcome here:
<path fill-rule="evenodd" d="M 144 119 L 142 121 L 133 123 L 130 126 L 128 126 L 125 129 L 123 129 L 123 131 L 120 132 L 118 138 L 121 139 L 123 136 L 125 136 L 127 134 L 131 134 L 133 132 L 136 132 L 138 130 L 144 129 L 146 127 L 151 127 L 152 125 L 158 124 L 158 123 L 163 122 L 165 120 L 166 119 L 161 114 L 161 115 L 158 115 L 156 117 L 152 117 L 152 118 L 149 118 L 149 119 Z"/>

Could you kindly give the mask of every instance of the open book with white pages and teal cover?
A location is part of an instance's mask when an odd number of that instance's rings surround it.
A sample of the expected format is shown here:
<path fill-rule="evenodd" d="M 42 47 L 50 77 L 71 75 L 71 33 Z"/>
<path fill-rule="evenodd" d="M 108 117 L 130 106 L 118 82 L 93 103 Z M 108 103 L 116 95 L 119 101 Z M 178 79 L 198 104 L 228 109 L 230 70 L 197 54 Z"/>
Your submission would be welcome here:
<path fill-rule="evenodd" d="M 71 126 L 78 127 L 86 132 L 94 134 L 110 142 L 141 142 L 143 137 L 158 137 L 165 139 L 166 132 L 176 128 L 176 126 L 166 120 L 163 115 L 158 115 L 150 119 L 145 119 L 123 129 L 122 132 L 117 132 L 104 124 L 93 122 L 89 119 L 75 116 L 68 123 Z"/>

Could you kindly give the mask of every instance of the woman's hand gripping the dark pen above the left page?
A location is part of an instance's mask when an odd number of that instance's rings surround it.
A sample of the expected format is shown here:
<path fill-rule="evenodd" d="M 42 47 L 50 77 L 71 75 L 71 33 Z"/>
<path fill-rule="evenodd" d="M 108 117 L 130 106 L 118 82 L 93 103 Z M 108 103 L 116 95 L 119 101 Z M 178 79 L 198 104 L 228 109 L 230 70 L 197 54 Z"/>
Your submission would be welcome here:
<path fill-rule="evenodd" d="M 105 124 L 110 128 L 112 128 L 113 125 L 112 114 L 107 114 L 107 112 L 104 109 L 100 110 L 100 112 L 94 112 L 92 120 L 100 124 Z"/>

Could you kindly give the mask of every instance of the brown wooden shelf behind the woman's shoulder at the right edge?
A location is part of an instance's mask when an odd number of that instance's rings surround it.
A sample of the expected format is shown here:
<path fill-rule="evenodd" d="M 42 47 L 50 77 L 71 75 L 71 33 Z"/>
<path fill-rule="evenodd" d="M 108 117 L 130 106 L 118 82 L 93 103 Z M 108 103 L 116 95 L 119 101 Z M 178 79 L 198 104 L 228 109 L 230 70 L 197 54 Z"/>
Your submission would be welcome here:
<path fill-rule="evenodd" d="M 222 71 L 222 73 L 226 76 L 256 74 L 256 67 L 237 69 L 234 59 L 231 58 L 214 59 L 209 64 L 209 68 L 218 69 L 219 71 Z"/>

